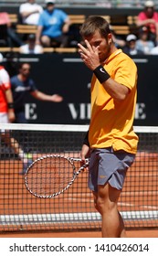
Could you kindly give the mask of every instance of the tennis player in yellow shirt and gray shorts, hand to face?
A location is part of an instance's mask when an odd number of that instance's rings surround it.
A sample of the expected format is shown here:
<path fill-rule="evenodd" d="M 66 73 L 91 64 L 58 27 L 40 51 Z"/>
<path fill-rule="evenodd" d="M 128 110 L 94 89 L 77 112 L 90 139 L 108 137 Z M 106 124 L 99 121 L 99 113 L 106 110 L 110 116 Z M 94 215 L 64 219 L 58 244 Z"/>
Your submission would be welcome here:
<path fill-rule="evenodd" d="M 102 237 L 126 237 L 117 203 L 137 151 L 133 132 L 137 68 L 115 47 L 108 22 L 90 16 L 80 29 L 80 58 L 92 70 L 90 129 L 81 159 L 90 153 L 89 187 L 102 218 Z"/>

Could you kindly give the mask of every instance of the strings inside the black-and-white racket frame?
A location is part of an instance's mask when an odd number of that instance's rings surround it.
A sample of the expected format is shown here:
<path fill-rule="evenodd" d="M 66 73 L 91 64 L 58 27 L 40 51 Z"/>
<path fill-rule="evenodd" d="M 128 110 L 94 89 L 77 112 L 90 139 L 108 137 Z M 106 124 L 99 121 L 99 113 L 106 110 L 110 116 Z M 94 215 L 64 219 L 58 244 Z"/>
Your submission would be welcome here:
<path fill-rule="evenodd" d="M 73 179 L 74 168 L 66 158 L 42 158 L 27 173 L 27 186 L 34 194 L 49 197 L 68 186 Z"/>

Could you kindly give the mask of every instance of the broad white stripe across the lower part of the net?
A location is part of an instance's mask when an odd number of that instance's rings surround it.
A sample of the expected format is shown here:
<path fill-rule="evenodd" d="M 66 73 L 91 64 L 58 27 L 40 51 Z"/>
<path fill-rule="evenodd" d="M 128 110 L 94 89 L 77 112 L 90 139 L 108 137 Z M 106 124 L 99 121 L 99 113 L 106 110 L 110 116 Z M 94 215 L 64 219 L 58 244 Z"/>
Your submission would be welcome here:
<path fill-rule="evenodd" d="M 124 220 L 158 219 L 158 210 L 122 211 Z M 100 221 L 98 212 L 62 213 L 62 214 L 25 214 L 1 215 L 0 225 L 26 225 L 26 224 L 58 224 L 74 222 Z"/>

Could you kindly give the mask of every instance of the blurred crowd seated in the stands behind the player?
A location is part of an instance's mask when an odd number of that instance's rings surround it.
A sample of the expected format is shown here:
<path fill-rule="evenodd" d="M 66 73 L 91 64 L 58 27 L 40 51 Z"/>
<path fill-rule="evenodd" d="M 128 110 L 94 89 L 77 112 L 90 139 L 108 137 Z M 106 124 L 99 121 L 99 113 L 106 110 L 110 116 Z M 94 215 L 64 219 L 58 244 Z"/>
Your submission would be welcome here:
<path fill-rule="evenodd" d="M 104 1 L 104 4 L 108 7 L 109 2 Z M 18 35 L 7 12 L 1 12 L 0 47 L 17 47 L 22 54 L 42 54 L 44 48 L 77 47 L 81 40 L 79 27 L 71 27 L 68 14 L 56 7 L 56 0 L 45 0 L 45 6 L 37 4 L 36 0 L 27 0 L 19 5 L 18 17 L 21 24 L 37 26 L 36 34 Z M 130 55 L 158 54 L 158 12 L 153 1 L 145 2 L 137 16 L 136 27 L 137 33 L 127 37 L 111 30 L 116 46 Z"/>

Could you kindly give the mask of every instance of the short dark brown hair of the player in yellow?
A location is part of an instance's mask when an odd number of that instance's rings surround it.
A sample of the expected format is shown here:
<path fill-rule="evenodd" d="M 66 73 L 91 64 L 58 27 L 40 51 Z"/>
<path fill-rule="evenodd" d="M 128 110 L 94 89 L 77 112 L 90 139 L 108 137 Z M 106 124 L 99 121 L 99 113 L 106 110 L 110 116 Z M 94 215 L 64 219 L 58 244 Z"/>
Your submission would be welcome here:
<path fill-rule="evenodd" d="M 101 16 L 89 16 L 80 28 L 80 35 L 82 37 L 90 37 L 96 31 L 100 32 L 101 37 L 108 37 L 111 33 L 109 23 Z"/>

